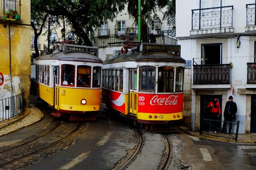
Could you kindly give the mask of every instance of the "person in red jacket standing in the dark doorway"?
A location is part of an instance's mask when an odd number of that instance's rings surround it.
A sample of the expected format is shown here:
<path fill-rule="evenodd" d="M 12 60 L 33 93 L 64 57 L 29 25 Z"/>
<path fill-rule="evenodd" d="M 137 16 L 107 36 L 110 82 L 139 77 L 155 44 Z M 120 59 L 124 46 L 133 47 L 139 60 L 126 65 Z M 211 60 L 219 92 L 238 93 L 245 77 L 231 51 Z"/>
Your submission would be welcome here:
<path fill-rule="evenodd" d="M 210 103 L 207 105 L 207 108 L 209 109 L 210 131 L 217 133 L 219 120 L 218 117 L 221 116 L 220 102 L 218 102 L 217 97 L 214 97 L 213 101 L 210 101 Z"/>

